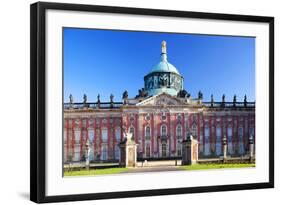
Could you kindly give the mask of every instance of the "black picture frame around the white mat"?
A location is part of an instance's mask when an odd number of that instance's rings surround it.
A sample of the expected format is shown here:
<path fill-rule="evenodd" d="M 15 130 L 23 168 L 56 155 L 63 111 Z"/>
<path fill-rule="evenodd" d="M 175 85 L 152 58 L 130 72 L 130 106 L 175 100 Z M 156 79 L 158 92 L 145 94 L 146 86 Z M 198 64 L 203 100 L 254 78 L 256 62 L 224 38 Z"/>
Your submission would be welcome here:
<path fill-rule="evenodd" d="M 151 16 L 169 16 L 195 19 L 263 22 L 269 25 L 269 181 L 221 186 L 171 188 L 108 193 L 90 193 L 46 196 L 46 59 L 45 25 L 48 9 L 121 13 Z M 141 197 L 198 192 L 217 192 L 274 187 L 274 18 L 265 16 L 233 15 L 144 8 L 110 7 L 82 4 L 38 2 L 30 6 L 30 200 L 37 203 L 76 200 L 97 200 L 124 197 Z"/>

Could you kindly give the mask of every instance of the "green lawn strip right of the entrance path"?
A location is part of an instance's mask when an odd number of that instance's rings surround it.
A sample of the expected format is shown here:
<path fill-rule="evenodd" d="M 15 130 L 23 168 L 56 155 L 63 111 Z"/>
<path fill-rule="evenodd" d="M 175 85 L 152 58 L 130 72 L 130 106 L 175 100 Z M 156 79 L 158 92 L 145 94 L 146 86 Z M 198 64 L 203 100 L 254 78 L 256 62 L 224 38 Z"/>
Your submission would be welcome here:
<path fill-rule="evenodd" d="M 225 168 L 246 168 L 255 167 L 255 164 L 194 164 L 180 166 L 184 170 L 200 170 L 200 169 L 225 169 Z"/>

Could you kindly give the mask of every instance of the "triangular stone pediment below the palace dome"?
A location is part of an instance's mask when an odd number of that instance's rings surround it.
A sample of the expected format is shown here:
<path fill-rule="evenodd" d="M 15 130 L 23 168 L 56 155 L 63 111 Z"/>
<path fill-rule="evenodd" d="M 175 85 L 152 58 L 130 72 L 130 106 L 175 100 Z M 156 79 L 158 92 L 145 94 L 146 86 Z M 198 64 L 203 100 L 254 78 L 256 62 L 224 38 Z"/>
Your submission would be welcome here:
<path fill-rule="evenodd" d="M 137 103 L 137 106 L 161 106 L 161 105 L 183 105 L 185 104 L 181 100 L 177 99 L 176 97 L 173 97 L 167 93 L 161 93 L 156 96 L 152 96 L 150 98 L 147 98 L 139 103 Z"/>

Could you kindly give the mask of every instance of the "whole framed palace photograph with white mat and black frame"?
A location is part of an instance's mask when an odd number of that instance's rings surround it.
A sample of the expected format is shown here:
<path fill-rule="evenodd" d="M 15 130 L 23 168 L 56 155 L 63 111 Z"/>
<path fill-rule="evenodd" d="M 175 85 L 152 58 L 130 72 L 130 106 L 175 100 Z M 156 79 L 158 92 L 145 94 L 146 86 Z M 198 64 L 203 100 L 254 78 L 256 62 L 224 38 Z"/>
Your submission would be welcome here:
<path fill-rule="evenodd" d="M 31 5 L 30 199 L 274 187 L 274 18 Z"/>

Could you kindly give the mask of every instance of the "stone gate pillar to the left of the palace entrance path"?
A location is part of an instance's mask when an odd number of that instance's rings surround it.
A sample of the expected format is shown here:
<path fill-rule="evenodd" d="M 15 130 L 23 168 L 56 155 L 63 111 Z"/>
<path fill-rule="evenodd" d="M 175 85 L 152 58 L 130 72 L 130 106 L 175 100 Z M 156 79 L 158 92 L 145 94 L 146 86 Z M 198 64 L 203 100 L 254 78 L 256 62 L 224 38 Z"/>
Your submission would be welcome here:
<path fill-rule="evenodd" d="M 137 144 L 132 139 L 131 133 L 126 133 L 124 140 L 120 146 L 120 167 L 136 167 L 137 166 Z"/>

